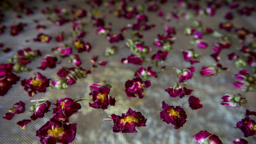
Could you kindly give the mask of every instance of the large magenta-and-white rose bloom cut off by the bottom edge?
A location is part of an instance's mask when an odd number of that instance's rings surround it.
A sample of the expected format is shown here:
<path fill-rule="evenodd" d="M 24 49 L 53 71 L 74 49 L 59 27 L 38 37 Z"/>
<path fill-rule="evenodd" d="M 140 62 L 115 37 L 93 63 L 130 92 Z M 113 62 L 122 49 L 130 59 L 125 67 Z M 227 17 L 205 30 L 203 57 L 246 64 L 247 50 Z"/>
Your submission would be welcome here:
<path fill-rule="evenodd" d="M 213 135 L 208 131 L 200 131 L 193 135 L 197 144 L 223 144 L 217 135 Z"/>

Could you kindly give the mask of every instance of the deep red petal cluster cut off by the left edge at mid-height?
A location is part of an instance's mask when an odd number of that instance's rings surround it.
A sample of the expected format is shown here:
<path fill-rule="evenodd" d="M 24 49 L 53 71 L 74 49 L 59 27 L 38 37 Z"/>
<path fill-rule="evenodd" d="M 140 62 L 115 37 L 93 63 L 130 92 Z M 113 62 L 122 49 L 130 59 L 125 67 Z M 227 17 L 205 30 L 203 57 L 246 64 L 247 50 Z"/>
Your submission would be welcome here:
<path fill-rule="evenodd" d="M 4 96 L 12 85 L 20 80 L 20 77 L 12 72 L 13 66 L 12 63 L 0 65 L 0 96 Z"/>

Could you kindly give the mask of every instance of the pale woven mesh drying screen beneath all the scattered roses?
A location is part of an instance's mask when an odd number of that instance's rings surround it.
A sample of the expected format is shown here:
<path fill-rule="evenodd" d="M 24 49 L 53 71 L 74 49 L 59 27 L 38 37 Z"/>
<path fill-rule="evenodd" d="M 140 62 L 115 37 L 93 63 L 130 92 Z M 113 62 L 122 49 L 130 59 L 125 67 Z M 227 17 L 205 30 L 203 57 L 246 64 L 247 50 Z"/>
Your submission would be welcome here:
<path fill-rule="evenodd" d="M 38 10 L 31 16 L 24 16 L 22 19 L 14 19 L 15 13 L 13 11 L 5 11 L 5 18 L 2 24 L 12 25 L 15 22 L 26 22 L 28 25 L 25 30 L 19 35 L 13 37 L 10 36 L 8 32 L 0 35 L 0 42 L 5 44 L 5 47 L 12 48 L 9 53 L 0 52 L 0 62 L 7 63 L 5 60 L 13 56 L 17 50 L 26 47 L 31 47 L 31 49 L 39 49 L 42 55 L 51 52 L 51 48 L 58 45 L 55 40 L 52 40 L 49 44 L 33 42 L 33 38 L 39 33 L 35 29 L 36 24 L 33 22 L 34 19 L 39 20 L 39 24 L 46 25 L 47 28 L 43 33 L 56 36 L 58 32 L 64 31 L 67 35 L 71 34 L 72 23 L 64 24 L 63 26 L 55 26 L 49 20 L 47 20 L 47 15 L 43 15 L 40 10 L 46 6 L 57 5 L 59 8 L 66 7 L 67 5 L 76 4 L 79 7 L 89 10 L 90 7 L 84 1 L 72 0 L 72 1 L 56 1 L 52 0 L 47 3 L 39 1 L 24 1 L 28 7 L 37 6 Z M 255 2 L 255 1 L 254 1 Z M 135 3 L 144 3 L 144 1 L 136 0 Z M 135 4 L 133 3 L 133 4 Z M 253 1 L 247 1 L 244 4 L 254 4 Z M 161 9 L 165 12 L 171 12 L 173 6 L 177 5 L 174 1 L 169 1 L 164 5 L 161 5 Z M 105 8 L 102 8 L 105 9 Z M 193 20 L 200 20 L 205 26 L 212 27 L 221 33 L 225 33 L 218 28 L 219 22 L 224 22 L 224 14 L 228 9 L 221 8 L 217 11 L 216 16 L 206 17 L 206 18 L 194 18 Z M 118 46 L 117 53 L 114 56 L 105 58 L 103 56 L 105 48 L 110 46 L 108 40 L 99 36 L 95 33 L 96 27 L 92 27 L 90 23 L 90 18 L 82 18 L 81 21 L 87 23 L 85 28 L 87 34 L 84 41 L 88 41 L 92 45 L 91 52 L 80 53 L 80 59 L 82 60 L 82 67 L 85 69 L 91 68 L 90 59 L 93 55 L 98 55 L 99 60 L 107 60 L 108 64 L 104 66 L 98 66 L 92 71 L 92 74 L 88 75 L 87 78 L 77 80 L 75 85 L 68 87 L 65 90 L 56 90 L 55 88 L 47 88 L 46 93 L 36 94 L 32 99 L 42 99 L 47 98 L 52 103 L 55 103 L 58 98 L 70 97 L 70 98 L 83 98 L 90 99 L 89 86 L 93 83 L 106 80 L 112 85 L 110 95 L 116 97 L 115 106 L 109 106 L 107 110 L 94 109 L 89 107 L 88 101 L 81 101 L 80 104 L 82 108 L 78 113 L 70 117 L 70 122 L 77 123 L 77 133 L 73 144 L 87 143 L 170 143 L 170 144 L 193 144 L 194 134 L 201 130 L 207 130 L 212 134 L 216 134 L 222 140 L 224 144 L 230 144 L 237 138 L 244 138 L 243 133 L 236 129 L 236 123 L 240 121 L 244 116 L 246 109 L 256 110 L 255 102 L 255 92 L 244 93 L 232 85 L 235 79 L 232 75 L 235 75 L 239 69 L 235 68 L 234 61 L 229 61 L 227 59 L 227 54 L 231 52 L 238 52 L 239 49 L 238 42 L 235 42 L 232 48 L 225 50 L 221 53 L 222 58 L 221 64 L 228 67 L 230 71 L 223 71 L 217 77 L 201 77 L 199 71 L 201 67 L 212 65 L 215 61 L 209 56 L 213 53 L 211 50 L 214 42 L 217 38 L 211 36 L 205 36 L 204 39 L 208 42 L 209 48 L 205 50 L 198 50 L 201 56 L 201 63 L 195 64 L 196 72 L 194 74 L 195 78 L 187 81 L 187 86 L 193 89 L 192 95 L 198 97 L 203 104 L 202 109 L 192 110 L 188 104 L 188 96 L 183 98 L 171 98 L 165 89 L 172 86 L 176 81 L 176 73 L 172 70 L 173 67 L 184 68 L 189 67 L 190 64 L 185 62 L 182 57 L 181 50 L 193 48 L 189 41 L 191 37 L 185 36 L 183 31 L 186 27 L 190 26 L 193 20 L 185 20 L 183 18 L 179 20 L 173 19 L 171 22 L 163 21 L 162 18 L 157 17 L 155 12 L 146 12 L 149 17 L 149 24 L 156 24 L 156 28 L 142 32 L 144 35 L 143 41 L 146 45 L 153 46 L 153 41 L 158 33 L 164 33 L 165 26 L 175 26 L 177 34 L 177 40 L 173 44 L 173 50 L 170 53 L 169 58 L 166 62 L 160 63 L 160 66 L 166 65 L 168 71 L 164 71 L 158 75 L 158 78 L 153 78 L 151 80 L 152 86 L 147 88 L 144 92 L 145 97 L 143 99 L 127 97 L 124 89 L 125 82 L 128 79 L 132 79 L 134 72 L 138 69 L 138 66 L 132 64 L 121 64 L 121 58 L 127 57 L 131 54 L 128 48 L 125 48 L 125 40 L 115 45 Z M 135 22 L 135 19 L 126 20 L 118 19 L 113 14 L 105 15 L 106 23 L 112 23 L 113 33 L 119 33 L 119 30 L 127 25 L 128 23 Z M 250 17 L 236 16 L 232 23 L 236 27 L 246 27 L 251 31 L 256 31 L 255 25 L 256 15 L 255 13 Z M 130 37 L 130 30 L 124 34 L 125 38 Z M 26 43 L 25 40 L 30 40 Z M 71 45 L 70 39 L 66 38 L 64 43 Z M 153 47 L 153 52 L 149 56 L 153 55 L 157 51 L 157 48 Z M 77 53 L 73 49 L 73 53 Z M 39 67 L 41 58 L 35 58 L 33 62 L 27 65 L 27 67 L 32 68 L 31 72 L 20 73 L 20 79 L 28 79 L 33 72 L 40 72 L 43 75 L 51 78 L 52 80 L 57 78 L 56 72 L 59 67 L 66 66 L 72 67 L 72 64 L 68 63 L 68 58 L 59 58 L 61 61 L 54 69 L 47 68 L 46 70 L 40 70 Z M 147 67 L 147 64 L 144 65 Z M 247 68 L 252 72 L 250 68 Z M 160 68 L 154 69 L 159 71 Z M 234 107 L 228 107 L 220 105 L 222 101 L 221 96 L 226 93 L 237 94 L 241 93 L 243 97 L 248 100 L 247 104 L 244 104 L 240 109 Z M 28 106 L 33 105 L 30 102 L 30 97 L 27 92 L 24 91 L 20 84 L 20 81 L 13 85 L 13 87 L 8 91 L 4 97 L 0 97 L 0 115 L 3 116 L 4 113 L 8 112 L 8 109 L 19 100 L 26 104 L 25 113 L 15 115 L 12 120 L 7 121 L 6 119 L 0 118 L 0 143 L 3 144 L 14 144 L 14 143 L 40 143 L 39 138 L 35 136 L 36 130 L 38 130 L 44 123 L 46 123 L 52 116 L 52 110 L 46 113 L 45 117 L 32 121 L 26 126 L 25 130 L 22 130 L 16 122 L 29 119 L 30 113 L 28 112 Z M 189 120 L 184 124 L 184 126 L 178 130 L 173 128 L 173 125 L 167 125 L 160 119 L 161 102 L 165 101 L 169 105 L 178 106 L 181 105 Z M 52 109 L 54 105 L 50 108 Z M 109 118 L 108 115 L 127 112 L 128 108 L 140 111 L 145 118 L 147 118 L 147 126 L 139 127 L 138 133 L 114 133 L 112 131 L 113 122 L 108 120 L 103 120 Z M 255 119 L 255 117 L 252 117 Z M 254 136 L 245 138 L 250 144 L 256 144 L 256 138 Z"/>

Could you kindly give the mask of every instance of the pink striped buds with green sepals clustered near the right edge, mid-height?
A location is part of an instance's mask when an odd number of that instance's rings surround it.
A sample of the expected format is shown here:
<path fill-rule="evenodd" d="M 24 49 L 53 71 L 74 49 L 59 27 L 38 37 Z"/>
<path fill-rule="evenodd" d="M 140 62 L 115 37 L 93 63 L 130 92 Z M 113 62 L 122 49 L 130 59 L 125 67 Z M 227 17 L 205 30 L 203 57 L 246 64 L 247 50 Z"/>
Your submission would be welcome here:
<path fill-rule="evenodd" d="M 247 70 L 241 70 L 234 76 L 239 81 L 233 82 L 233 85 L 242 91 L 255 91 L 254 85 L 256 84 L 256 75 L 250 75 Z"/>

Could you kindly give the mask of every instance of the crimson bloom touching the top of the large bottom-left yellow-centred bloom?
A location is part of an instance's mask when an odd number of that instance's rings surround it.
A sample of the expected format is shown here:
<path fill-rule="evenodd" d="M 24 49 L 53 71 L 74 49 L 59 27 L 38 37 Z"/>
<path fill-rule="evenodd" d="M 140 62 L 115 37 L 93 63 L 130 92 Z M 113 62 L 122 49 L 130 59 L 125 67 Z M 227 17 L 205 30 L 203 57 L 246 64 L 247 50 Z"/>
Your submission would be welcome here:
<path fill-rule="evenodd" d="M 81 105 L 71 98 L 62 98 L 56 101 L 56 108 L 53 108 L 53 118 L 64 123 L 69 122 L 69 117 L 81 109 Z"/>

